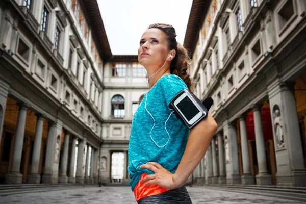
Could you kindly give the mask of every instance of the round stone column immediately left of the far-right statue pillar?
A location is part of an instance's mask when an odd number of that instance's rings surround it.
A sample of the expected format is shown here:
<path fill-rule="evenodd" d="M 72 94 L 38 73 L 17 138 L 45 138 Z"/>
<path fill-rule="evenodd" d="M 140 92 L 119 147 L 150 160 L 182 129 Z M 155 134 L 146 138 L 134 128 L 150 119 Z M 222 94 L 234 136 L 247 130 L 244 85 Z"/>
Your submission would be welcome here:
<path fill-rule="evenodd" d="M 265 139 L 263 132 L 263 125 L 260 113 L 260 106 L 253 106 L 254 112 L 254 128 L 255 128 L 255 142 L 257 152 L 258 174 L 256 175 L 256 184 L 258 185 L 272 185 L 272 177 L 268 174 L 267 159 L 265 150 Z"/>

